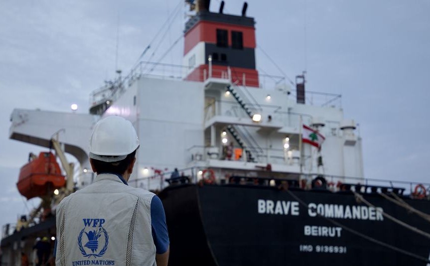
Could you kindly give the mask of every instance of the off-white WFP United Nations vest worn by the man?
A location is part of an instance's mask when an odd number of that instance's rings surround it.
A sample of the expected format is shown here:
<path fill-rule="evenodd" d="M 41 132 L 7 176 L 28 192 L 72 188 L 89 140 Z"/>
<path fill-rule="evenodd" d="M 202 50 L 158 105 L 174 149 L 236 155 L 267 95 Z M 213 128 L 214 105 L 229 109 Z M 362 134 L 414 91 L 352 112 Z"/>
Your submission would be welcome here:
<path fill-rule="evenodd" d="M 57 207 L 56 265 L 156 265 L 151 227 L 154 194 L 112 174 Z"/>

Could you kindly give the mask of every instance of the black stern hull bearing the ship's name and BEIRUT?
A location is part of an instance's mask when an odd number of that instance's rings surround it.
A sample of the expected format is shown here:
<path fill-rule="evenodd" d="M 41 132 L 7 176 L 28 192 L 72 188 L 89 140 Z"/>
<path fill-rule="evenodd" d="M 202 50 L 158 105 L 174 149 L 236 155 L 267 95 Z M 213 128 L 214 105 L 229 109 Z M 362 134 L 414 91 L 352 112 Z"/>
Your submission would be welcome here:
<path fill-rule="evenodd" d="M 306 203 L 342 205 L 344 208 L 365 206 L 357 203 L 352 193 L 302 190 L 293 193 Z M 430 232 L 430 222 L 408 213 L 404 208 L 377 194 L 363 196 L 397 219 Z M 297 215 L 293 215 L 292 208 L 288 209 L 287 214 L 283 210 L 282 213 L 278 210 L 277 214 L 259 213 L 258 200 L 284 201 L 284 204 L 295 202 L 286 191 L 260 186 L 189 185 L 167 188 L 160 198 L 165 206 L 171 239 L 171 266 L 426 265 L 422 260 L 370 242 L 345 229 L 336 229 L 338 226 L 327 219 L 312 217 L 302 205 L 295 207 L 294 214 Z M 418 210 L 430 213 L 430 202 L 427 200 L 405 201 Z M 369 213 L 366 219 L 365 215 L 362 219 L 352 219 L 345 212 L 346 218 L 333 220 L 428 258 L 430 239 L 385 217 L 377 217 L 374 212 L 370 214 L 373 219 L 370 219 Z M 330 228 L 331 235 L 323 227 Z"/>

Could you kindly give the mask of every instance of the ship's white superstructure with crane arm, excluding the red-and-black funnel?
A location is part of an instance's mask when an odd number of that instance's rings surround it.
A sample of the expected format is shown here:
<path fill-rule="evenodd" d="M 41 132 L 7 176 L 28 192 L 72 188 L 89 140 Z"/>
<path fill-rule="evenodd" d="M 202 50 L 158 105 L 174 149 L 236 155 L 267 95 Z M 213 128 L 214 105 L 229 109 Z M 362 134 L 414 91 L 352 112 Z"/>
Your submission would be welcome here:
<path fill-rule="evenodd" d="M 261 176 L 267 164 L 271 165 L 271 175 L 280 178 L 294 179 L 300 173 L 363 178 L 361 139 L 354 132 L 354 121 L 343 117 L 339 105 L 301 104 L 286 86 L 244 87 L 218 78 L 195 82 L 137 75 L 128 84 L 103 116 L 123 116 L 138 132 L 137 181 L 130 181 L 131 185 L 160 189 L 160 175 L 152 176 L 159 173 L 157 170 L 167 173 L 174 168 L 187 169 L 184 174 L 194 178 L 207 168 L 216 170 L 217 179 L 226 175 Z M 253 106 L 258 105 L 255 109 L 261 114 L 260 122 L 253 121 L 232 94 L 226 93 L 227 85 L 243 98 L 252 98 Z M 326 102 L 337 97 L 307 93 L 307 98 L 315 97 L 314 101 L 318 96 Z M 60 130 L 59 140 L 65 144 L 65 151 L 78 159 L 82 169 L 90 169 L 88 139 L 100 117 L 15 109 L 10 138 L 48 147 L 48 140 Z M 303 143 L 301 149 L 301 124 L 314 125 L 324 135 L 323 166 L 318 167 L 317 148 Z M 226 160 L 225 146 L 232 142 L 235 149 L 241 148 L 229 126 L 250 152 L 252 161 L 246 156 L 234 160 L 234 155 Z M 285 138 L 289 138 L 288 148 L 284 146 Z M 82 175 L 79 185 L 90 182 L 90 174 Z"/>

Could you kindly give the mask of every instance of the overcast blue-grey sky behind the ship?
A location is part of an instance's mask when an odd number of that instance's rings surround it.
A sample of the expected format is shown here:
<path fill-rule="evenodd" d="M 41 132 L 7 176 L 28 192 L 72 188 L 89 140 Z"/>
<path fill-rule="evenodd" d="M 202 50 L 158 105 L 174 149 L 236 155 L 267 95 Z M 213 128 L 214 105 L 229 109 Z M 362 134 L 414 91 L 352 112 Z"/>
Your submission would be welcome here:
<path fill-rule="evenodd" d="M 36 204 L 26 207 L 15 184 L 28 153 L 43 150 L 9 139 L 12 110 L 68 112 L 77 103 L 87 112 L 90 92 L 114 77 L 115 65 L 128 73 L 168 14 L 170 31 L 144 60 L 157 61 L 181 36 L 179 3 L 0 0 L 0 225 Z M 211 10 L 219 4 L 212 0 Z M 365 177 L 429 182 L 430 1 L 248 4 L 257 46 L 283 73 L 307 70 L 308 90 L 342 94 L 345 117 L 360 124 Z M 239 15 L 241 6 L 226 1 L 224 12 Z M 163 62 L 182 64 L 182 49 L 181 40 Z M 261 71 L 281 75 L 259 48 L 256 57 Z"/>

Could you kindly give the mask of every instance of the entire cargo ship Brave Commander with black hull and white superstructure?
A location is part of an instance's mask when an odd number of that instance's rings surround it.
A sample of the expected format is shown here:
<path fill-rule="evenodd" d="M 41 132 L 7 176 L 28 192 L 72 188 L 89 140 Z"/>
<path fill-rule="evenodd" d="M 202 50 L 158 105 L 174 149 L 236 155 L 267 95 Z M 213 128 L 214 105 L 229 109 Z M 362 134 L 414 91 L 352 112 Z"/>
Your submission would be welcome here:
<path fill-rule="evenodd" d="M 225 14 L 224 2 L 217 12 L 207 0 L 186 3 L 182 65 L 138 62 L 91 93 L 88 114 L 13 111 L 10 138 L 55 150 L 66 175 L 50 167 L 49 152 L 23 167 L 20 192 L 45 198 L 43 215 L 5 230 L 2 263 L 17 264 L 37 237 L 55 239 L 55 203 L 91 184 L 88 139 L 107 115 L 138 132 L 129 185 L 162 199 L 169 265 L 430 263 L 429 185 L 366 179 L 340 95 L 308 91 L 306 73 L 295 82 L 259 73 L 246 3 L 238 15 Z M 64 153 L 78 173 L 66 170 Z"/>

